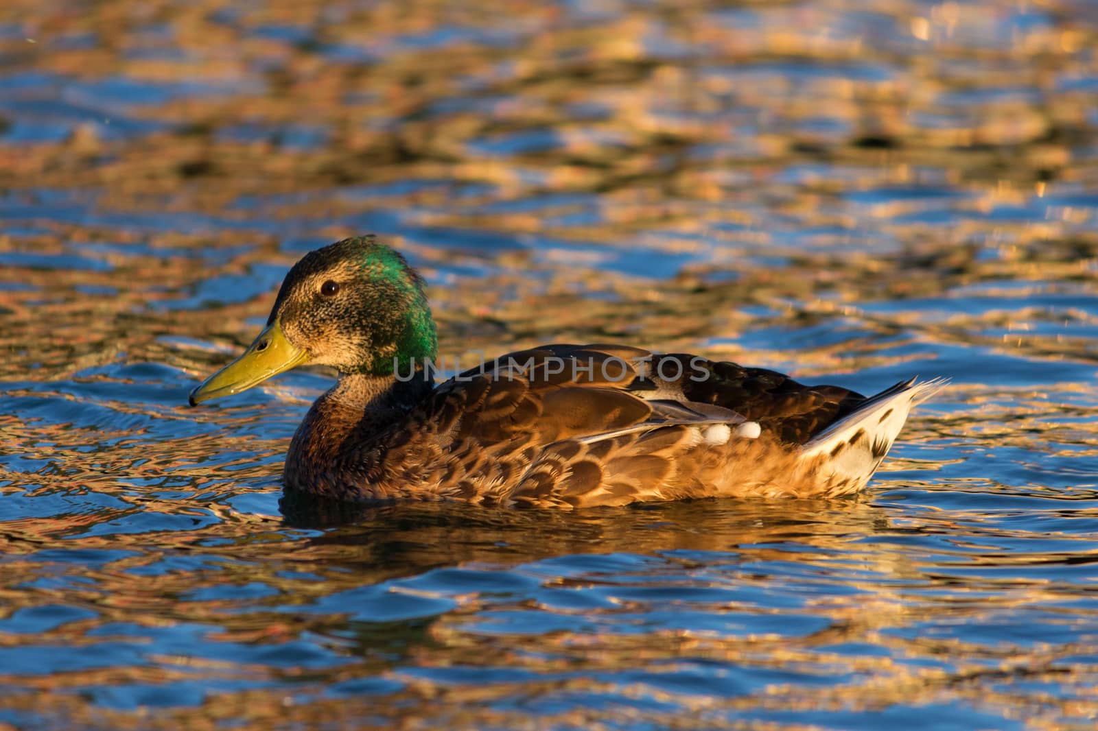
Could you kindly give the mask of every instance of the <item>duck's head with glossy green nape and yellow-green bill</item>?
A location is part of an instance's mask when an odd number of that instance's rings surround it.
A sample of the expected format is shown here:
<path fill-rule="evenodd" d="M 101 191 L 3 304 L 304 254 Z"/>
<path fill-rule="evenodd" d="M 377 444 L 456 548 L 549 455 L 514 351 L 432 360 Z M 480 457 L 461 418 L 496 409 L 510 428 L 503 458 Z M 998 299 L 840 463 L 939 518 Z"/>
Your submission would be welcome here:
<path fill-rule="evenodd" d="M 372 236 L 311 251 L 282 281 L 267 326 L 239 358 L 191 392 L 191 405 L 250 389 L 295 366 L 391 375 L 435 358 L 423 280 Z"/>

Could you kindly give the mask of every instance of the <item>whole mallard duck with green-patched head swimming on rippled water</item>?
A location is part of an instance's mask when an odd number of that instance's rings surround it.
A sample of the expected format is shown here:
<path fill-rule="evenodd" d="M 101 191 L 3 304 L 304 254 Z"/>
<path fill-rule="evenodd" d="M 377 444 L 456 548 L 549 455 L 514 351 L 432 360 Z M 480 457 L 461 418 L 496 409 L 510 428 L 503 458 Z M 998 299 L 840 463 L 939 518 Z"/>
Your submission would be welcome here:
<path fill-rule="evenodd" d="M 942 381 L 873 396 L 687 353 L 547 345 L 437 384 L 424 282 L 372 236 L 305 255 L 267 326 L 191 405 L 304 363 L 336 384 L 290 442 L 288 490 L 345 501 L 542 507 L 865 486 L 909 409 Z"/>

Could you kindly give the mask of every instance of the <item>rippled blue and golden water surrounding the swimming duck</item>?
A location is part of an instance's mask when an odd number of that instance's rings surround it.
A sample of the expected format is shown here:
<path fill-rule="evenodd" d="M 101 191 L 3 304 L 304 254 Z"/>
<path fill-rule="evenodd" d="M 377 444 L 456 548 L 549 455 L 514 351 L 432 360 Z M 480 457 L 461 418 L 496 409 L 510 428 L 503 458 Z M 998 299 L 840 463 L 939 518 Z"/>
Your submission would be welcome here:
<path fill-rule="evenodd" d="M 0 726 L 1089 729 L 1098 5 L 0 8 Z M 280 505 L 374 232 L 449 358 L 954 386 L 845 502 Z M 8 728 L 4 726 L 4 728 Z"/>

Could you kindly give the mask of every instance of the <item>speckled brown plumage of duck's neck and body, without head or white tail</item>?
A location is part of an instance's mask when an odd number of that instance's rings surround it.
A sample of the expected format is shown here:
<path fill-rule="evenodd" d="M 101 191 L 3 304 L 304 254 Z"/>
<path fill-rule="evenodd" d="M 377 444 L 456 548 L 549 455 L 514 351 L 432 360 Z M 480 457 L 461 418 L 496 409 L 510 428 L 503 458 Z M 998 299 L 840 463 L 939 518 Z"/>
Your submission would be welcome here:
<path fill-rule="evenodd" d="M 602 378 L 601 366 L 609 357 L 614 366 L 628 366 L 624 376 Z M 864 484 L 829 472 L 827 458 L 806 461 L 799 452 L 821 426 L 864 403 L 860 394 L 699 359 L 695 363 L 712 369 L 715 378 L 643 378 L 642 368 L 653 360 L 659 362 L 634 348 L 556 345 L 504 356 L 491 370 L 467 372 L 468 380 L 435 390 L 421 379 L 345 378 L 299 428 L 285 483 L 344 499 L 552 507 L 715 495 L 841 495 Z M 549 363 L 564 363 L 564 372 L 547 373 Z M 583 367 L 578 378 L 573 366 Z M 350 406 L 356 401 L 346 397 L 351 390 L 381 395 L 361 408 Z M 669 398 L 675 391 L 679 401 Z M 371 413 L 382 397 L 403 398 L 411 407 L 403 418 L 386 416 L 379 423 Z M 719 411 L 705 412 L 703 404 Z M 758 438 L 714 445 L 702 437 L 714 424 L 742 423 L 743 417 L 766 425 Z M 623 434 L 592 439 L 615 431 Z"/>

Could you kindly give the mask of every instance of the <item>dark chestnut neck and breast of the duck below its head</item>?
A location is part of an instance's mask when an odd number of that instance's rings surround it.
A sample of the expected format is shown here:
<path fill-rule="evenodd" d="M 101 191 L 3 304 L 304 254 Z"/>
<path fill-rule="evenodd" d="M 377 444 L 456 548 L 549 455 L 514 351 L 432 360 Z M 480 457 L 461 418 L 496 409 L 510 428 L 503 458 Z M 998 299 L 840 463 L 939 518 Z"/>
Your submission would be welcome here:
<path fill-rule="evenodd" d="M 410 380 L 394 375 L 341 375 L 338 383 L 316 400 L 298 427 L 285 456 L 283 482 L 288 487 L 313 493 L 335 493 L 337 477 L 347 471 L 370 470 L 370 449 L 378 437 L 397 427 L 434 389 L 429 378 L 416 372 Z M 344 464 L 351 454 L 355 464 Z M 377 454 L 378 458 L 381 454 Z M 338 495 L 333 495 L 338 496 Z"/>

